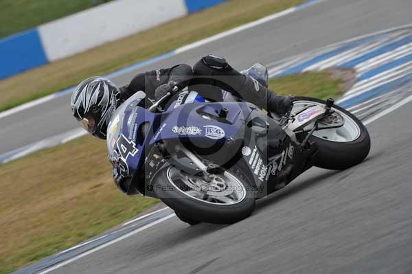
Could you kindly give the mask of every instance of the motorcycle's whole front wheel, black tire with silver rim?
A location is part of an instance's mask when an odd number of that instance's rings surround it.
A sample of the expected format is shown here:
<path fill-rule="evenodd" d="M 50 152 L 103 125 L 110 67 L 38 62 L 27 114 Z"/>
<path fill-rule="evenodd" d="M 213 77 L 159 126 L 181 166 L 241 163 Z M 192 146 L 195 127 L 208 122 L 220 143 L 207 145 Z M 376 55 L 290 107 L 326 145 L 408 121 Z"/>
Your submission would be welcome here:
<path fill-rule="evenodd" d="M 190 176 L 170 165 L 159 171 L 153 185 L 157 197 L 174 209 L 178 217 L 193 223 L 231 224 L 250 216 L 255 207 L 253 188 L 247 177 L 240 174 L 242 171 L 236 167 L 212 174 L 218 176 L 216 181 L 221 185 L 208 188 L 203 182 L 206 187 L 199 188 L 196 180 L 201 182 L 203 177 Z"/>

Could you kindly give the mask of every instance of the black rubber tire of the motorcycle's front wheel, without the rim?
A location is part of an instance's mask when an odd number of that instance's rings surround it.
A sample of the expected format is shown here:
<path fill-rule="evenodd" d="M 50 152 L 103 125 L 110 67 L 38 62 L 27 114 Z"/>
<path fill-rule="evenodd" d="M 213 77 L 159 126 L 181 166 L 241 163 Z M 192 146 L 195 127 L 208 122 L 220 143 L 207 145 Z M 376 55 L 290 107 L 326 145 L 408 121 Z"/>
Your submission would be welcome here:
<path fill-rule="evenodd" d="M 249 217 L 253 212 L 255 208 L 253 188 L 250 186 L 249 180 L 245 176 L 240 175 L 242 172 L 239 168 L 233 167 L 227 170 L 227 172 L 231 176 L 236 177 L 238 182 L 244 186 L 245 196 L 238 203 L 229 205 L 207 203 L 184 194 L 178 187 L 174 187 L 170 183 L 168 179 L 170 168 L 174 167 L 170 165 L 159 171 L 153 181 L 154 191 L 163 203 L 174 209 L 175 212 L 178 212 L 185 220 L 214 224 L 232 224 Z"/>

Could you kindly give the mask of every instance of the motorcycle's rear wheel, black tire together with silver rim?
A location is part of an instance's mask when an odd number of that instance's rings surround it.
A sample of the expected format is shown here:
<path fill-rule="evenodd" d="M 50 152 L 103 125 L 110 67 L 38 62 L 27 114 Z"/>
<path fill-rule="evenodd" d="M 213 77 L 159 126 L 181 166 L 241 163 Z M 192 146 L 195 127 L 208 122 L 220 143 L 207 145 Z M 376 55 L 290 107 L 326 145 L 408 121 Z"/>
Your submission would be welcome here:
<path fill-rule="evenodd" d="M 297 97 L 295 98 L 294 105 L 305 102 L 325 104 L 323 100 Z M 340 106 L 334 105 L 332 109 L 345 118 L 345 123 L 350 124 L 352 129 L 349 128 L 347 130 L 358 130 L 358 132 L 354 133 L 352 138 L 348 134 L 347 140 L 345 140 L 344 136 L 334 139 L 333 136 L 330 137 L 329 133 L 322 133 L 323 130 L 315 131 L 314 135 L 310 137 L 310 140 L 314 141 L 319 147 L 314 165 L 329 170 L 344 170 L 361 163 L 367 157 L 371 148 L 371 141 L 367 128 L 355 115 Z"/>

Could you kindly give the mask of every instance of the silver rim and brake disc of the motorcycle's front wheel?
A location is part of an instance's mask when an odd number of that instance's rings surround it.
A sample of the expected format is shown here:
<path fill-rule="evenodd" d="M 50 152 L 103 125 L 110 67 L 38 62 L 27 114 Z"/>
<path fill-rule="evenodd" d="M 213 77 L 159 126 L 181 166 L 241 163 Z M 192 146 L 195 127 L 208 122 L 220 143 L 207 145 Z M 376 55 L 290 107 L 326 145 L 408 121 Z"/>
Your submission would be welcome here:
<path fill-rule="evenodd" d="M 203 203 L 234 205 L 246 198 L 244 185 L 230 172 L 210 175 L 208 182 L 201 176 L 191 176 L 174 167 L 167 170 L 168 180 L 176 190 Z"/>

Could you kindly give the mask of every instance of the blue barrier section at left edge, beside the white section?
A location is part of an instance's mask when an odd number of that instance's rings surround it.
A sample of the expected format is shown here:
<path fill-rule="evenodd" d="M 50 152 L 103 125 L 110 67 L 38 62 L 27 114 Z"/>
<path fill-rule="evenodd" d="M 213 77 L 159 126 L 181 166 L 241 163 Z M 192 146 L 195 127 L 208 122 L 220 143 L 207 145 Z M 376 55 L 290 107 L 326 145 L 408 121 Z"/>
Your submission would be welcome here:
<path fill-rule="evenodd" d="M 36 29 L 0 40 L 0 79 L 47 63 Z"/>

